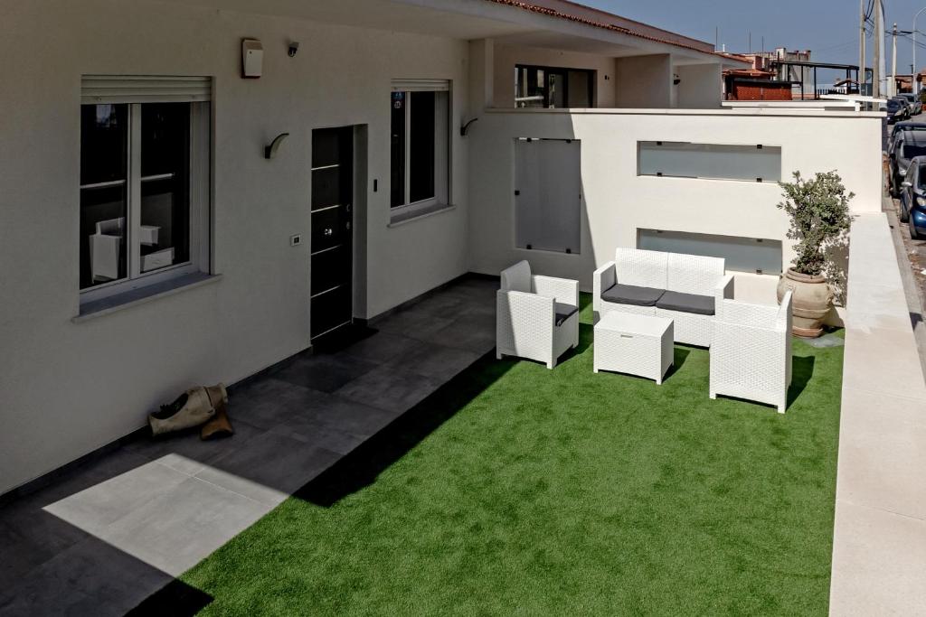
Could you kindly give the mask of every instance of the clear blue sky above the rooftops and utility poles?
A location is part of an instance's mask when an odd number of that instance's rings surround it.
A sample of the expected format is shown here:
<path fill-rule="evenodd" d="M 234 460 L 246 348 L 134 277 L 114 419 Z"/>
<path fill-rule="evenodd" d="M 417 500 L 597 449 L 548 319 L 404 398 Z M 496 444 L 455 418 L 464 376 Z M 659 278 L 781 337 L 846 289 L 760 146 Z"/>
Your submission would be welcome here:
<path fill-rule="evenodd" d="M 788 47 L 810 49 L 820 61 L 858 62 L 858 0 L 578 0 L 631 19 L 645 21 L 670 31 L 681 32 L 714 42 L 714 29 L 720 28 L 720 43 L 728 51 L 745 52 L 752 31 L 753 48 L 760 50 L 762 37 L 766 49 Z M 866 4 L 868 0 L 866 0 Z M 900 30 L 913 30 L 913 15 L 926 6 L 926 0 L 883 0 L 885 30 L 896 21 Z M 926 11 L 917 28 L 926 32 Z M 918 34 L 926 44 L 926 34 Z M 871 57 L 869 39 L 869 58 Z M 888 55 L 891 39 L 885 41 Z M 912 44 L 897 39 L 897 72 L 909 72 Z M 926 67 L 926 47 L 918 47 L 917 63 Z M 869 59 L 870 65 L 870 59 Z M 890 57 L 888 57 L 890 71 Z"/>

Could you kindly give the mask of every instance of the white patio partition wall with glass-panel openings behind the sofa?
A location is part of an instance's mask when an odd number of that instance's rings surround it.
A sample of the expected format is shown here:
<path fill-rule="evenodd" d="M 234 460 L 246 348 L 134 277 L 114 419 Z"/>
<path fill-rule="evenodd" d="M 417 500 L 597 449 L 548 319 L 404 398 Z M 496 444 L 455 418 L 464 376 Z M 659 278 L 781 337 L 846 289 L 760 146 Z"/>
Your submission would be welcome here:
<path fill-rule="evenodd" d="M 582 253 L 515 248 L 514 141 L 582 141 Z M 782 241 L 793 256 L 787 217 L 774 182 L 637 176 L 638 141 L 766 144 L 782 147 L 782 176 L 836 169 L 856 193 L 856 212 L 881 209 L 881 118 L 824 111 L 489 110 L 470 133 L 470 269 L 498 274 L 528 259 L 537 272 L 576 278 L 591 290 L 592 272 L 617 246 L 635 246 L 638 228 Z M 773 301 L 776 277 L 744 276 L 742 295 Z"/>

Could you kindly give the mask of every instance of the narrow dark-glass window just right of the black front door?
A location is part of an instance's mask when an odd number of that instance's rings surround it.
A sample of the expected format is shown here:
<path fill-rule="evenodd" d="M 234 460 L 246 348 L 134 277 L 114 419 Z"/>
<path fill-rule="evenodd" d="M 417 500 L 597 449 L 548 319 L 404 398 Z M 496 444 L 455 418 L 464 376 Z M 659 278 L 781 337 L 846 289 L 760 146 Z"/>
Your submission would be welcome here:
<path fill-rule="evenodd" d="M 392 93 L 390 204 L 445 202 L 449 96 Z"/>

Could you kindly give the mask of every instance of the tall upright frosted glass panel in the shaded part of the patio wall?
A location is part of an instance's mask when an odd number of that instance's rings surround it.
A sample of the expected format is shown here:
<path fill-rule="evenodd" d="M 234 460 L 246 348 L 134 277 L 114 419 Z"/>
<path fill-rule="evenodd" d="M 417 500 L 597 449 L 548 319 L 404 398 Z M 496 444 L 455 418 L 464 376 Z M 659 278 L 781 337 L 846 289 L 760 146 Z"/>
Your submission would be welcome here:
<path fill-rule="evenodd" d="M 515 142 L 516 246 L 582 252 L 582 147 L 576 140 Z"/>

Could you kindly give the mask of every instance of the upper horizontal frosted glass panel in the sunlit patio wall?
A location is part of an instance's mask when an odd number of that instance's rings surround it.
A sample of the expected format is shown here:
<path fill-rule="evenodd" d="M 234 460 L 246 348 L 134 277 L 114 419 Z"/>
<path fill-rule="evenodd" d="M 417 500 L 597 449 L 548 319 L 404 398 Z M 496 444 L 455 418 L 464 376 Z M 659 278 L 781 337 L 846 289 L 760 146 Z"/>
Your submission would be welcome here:
<path fill-rule="evenodd" d="M 779 182 L 782 148 L 725 143 L 637 142 L 637 173 L 669 178 Z"/>

